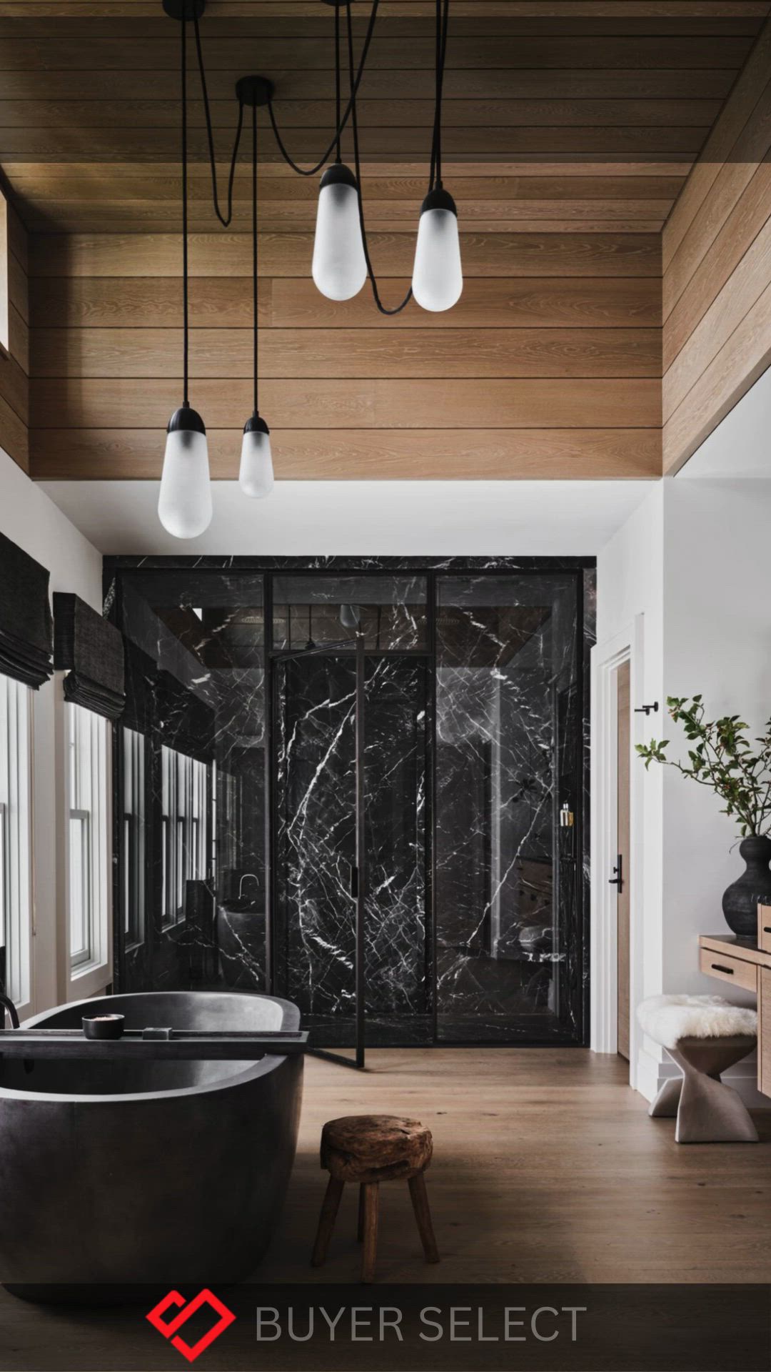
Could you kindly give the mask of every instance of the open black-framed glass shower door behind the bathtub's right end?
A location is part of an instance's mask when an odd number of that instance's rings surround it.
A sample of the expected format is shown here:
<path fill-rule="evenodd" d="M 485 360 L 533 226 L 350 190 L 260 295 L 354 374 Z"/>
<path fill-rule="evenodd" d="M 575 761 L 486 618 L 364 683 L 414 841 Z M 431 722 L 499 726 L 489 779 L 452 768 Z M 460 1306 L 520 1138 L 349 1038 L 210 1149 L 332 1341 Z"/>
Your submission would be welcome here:
<path fill-rule="evenodd" d="M 276 654 L 272 702 L 270 982 L 299 1006 L 316 1052 L 364 1067 L 364 637 L 353 654 L 347 643 Z M 335 1051 L 340 1039 L 353 1059 Z"/>

